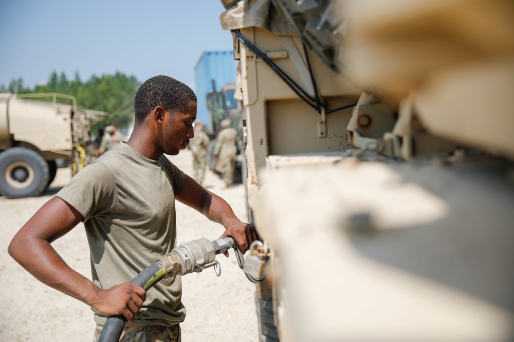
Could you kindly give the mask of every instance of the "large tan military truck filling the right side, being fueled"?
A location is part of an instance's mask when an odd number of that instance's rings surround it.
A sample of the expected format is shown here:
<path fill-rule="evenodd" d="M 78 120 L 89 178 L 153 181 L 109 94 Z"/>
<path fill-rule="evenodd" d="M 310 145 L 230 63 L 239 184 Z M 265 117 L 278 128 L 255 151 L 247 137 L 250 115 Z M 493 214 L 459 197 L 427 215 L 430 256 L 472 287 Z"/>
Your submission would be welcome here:
<path fill-rule="evenodd" d="M 514 340 L 514 3 L 222 4 L 260 340 Z"/>

